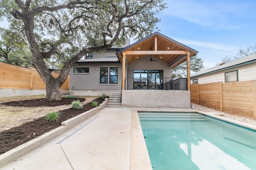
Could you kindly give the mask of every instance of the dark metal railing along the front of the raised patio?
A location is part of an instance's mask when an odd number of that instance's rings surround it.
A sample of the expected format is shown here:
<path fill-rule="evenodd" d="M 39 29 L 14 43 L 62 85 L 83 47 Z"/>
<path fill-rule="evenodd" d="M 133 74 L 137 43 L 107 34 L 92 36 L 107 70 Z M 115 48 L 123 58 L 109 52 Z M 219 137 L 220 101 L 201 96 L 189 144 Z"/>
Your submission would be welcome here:
<path fill-rule="evenodd" d="M 187 78 L 125 78 L 125 90 L 187 90 Z"/>

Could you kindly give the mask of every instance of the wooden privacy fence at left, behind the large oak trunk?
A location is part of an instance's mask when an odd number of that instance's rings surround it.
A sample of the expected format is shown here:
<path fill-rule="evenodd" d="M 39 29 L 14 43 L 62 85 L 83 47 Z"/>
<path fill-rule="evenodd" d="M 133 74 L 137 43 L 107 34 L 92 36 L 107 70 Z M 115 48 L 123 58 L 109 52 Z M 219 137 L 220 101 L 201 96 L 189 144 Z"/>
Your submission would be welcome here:
<path fill-rule="evenodd" d="M 57 78 L 58 73 L 52 72 Z M 0 88 L 2 89 L 45 89 L 46 86 L 35 68 L 24 68 L 0 62 Z M 69 90 L 69 76 L 60 89 Z"/>

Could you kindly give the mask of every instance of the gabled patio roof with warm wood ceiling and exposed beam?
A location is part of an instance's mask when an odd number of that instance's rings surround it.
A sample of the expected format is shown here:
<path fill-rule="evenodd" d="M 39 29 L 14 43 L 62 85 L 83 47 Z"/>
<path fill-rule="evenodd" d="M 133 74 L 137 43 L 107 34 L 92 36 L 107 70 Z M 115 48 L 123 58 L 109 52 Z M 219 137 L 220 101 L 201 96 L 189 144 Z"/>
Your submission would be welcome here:
<path fill-rule="evenodd" d="M 155 32 L 144 39 L 125 47 L 117 52 L 120 62 L 123 54 L 126 55 L 126 62 L 132 63 L 146 55 L 152 55 L 159 60 L 168 63 L 171 68 L 186 61 L 187 54 L 195 55 L 198 51 L 187 47 L 169 37 Z"/>

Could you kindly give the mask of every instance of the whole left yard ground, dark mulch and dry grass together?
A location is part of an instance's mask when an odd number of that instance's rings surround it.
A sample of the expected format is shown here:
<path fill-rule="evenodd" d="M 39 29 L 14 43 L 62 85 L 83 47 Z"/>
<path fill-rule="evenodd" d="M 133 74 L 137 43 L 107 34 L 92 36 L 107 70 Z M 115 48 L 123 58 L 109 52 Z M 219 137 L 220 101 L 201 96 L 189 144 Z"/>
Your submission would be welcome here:
<path fill-rule="evenodd" d="M 26 143 L 61 125 L 62 121 L 84 113 L 94 107 L 91 102 L 101 104 L 99 96 L 62 98 L 47 101 L 45 96 L 0 98 L 0 154 Z M 82 109 L 72 109 L 71 102 L 80 100 Z M 60 111 L 56 121 L 46 121 L 45 115 Z"/>

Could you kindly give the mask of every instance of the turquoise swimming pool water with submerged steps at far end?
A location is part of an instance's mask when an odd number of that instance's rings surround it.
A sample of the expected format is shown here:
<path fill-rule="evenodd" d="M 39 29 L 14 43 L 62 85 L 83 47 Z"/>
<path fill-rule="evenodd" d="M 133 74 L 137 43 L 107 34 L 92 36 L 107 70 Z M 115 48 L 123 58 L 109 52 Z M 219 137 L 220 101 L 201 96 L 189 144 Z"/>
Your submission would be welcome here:
<path fill-rule="evenodd" d="M 138 112 L 153 170 L 256 170 L 256 132 L 199 113 Z"/>

